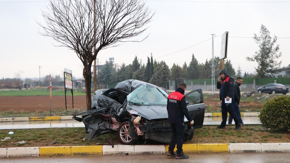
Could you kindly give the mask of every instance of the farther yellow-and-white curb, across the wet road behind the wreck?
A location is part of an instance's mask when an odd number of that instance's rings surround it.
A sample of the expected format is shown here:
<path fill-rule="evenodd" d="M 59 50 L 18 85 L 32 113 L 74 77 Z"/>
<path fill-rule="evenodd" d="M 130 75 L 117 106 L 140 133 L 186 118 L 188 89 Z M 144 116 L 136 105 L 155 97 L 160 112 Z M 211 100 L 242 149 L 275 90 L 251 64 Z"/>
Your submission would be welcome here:
<path fill-rule="evenodd" d="M 257 117 L 260 113 L 241 113 L 243 117 Z M 228 113 L 229 116 L 229 113 Z M 222 113 L 204 113 L 204 117 L 222 117 Z M 73 116 L 55 116 L 55 117 L 11 117 L 0 118 L 1 122 L 23 122 L 23 121 L 62 121 L 72 120 Z"/>

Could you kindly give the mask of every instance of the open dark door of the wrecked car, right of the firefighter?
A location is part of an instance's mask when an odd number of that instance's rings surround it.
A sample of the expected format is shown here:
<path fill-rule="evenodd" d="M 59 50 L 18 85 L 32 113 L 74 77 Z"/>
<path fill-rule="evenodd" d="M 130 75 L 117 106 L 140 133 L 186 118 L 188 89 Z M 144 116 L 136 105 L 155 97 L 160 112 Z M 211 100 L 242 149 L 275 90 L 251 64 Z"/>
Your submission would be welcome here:
<path fill-rule="evenodd" d="M 203 95 L 201 89 L 193 90 L 185 95 L 185 99 L 189 104 L 187 109 L 194 120 L 193 128 L 202 128 L 204 120 L 205 105 L 203 103 Z"/>

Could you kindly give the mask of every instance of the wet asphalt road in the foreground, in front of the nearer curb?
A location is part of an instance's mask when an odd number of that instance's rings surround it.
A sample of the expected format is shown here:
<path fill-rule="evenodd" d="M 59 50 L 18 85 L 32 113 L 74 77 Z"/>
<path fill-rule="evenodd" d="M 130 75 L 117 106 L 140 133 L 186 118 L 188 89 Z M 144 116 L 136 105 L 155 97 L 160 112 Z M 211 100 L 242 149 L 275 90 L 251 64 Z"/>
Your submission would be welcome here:
<path fill-rule="evenodd" d="M 290 153 L 216 153 L 216 154 L 189 154 L 189 159 L 177 160 L 164 155 L 106 155 L 106 156 L 66 156 L 66 157 L 22 157 L 5 158 L 0 162 L 12 163 L 171 163 L 171 162 L 213 162 L 213 163 L 290 163 Z"/>

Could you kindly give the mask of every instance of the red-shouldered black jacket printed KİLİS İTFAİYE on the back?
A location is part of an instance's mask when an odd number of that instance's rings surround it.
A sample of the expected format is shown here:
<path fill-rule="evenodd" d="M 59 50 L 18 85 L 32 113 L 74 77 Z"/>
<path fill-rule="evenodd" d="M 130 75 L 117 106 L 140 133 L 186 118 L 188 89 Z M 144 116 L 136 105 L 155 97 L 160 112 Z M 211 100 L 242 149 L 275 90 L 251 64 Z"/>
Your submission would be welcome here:
<path fill-rule="evenodd" d="M 183 123 L 184 115 L 191 122 L 193 119 L 189 114 L 184 97 L 184 90 L 177 88 L 167 98 L 168 123 Z"/>

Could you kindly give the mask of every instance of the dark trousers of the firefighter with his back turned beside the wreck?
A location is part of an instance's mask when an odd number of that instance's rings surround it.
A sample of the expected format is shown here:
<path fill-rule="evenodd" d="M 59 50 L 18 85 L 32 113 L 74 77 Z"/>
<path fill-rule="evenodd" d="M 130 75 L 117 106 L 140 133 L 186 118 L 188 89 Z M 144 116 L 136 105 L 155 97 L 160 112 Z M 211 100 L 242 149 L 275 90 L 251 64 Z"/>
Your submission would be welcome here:
<path fill-rule="evenodd" d="M 183 123 L 171 123 L 172 136 L 169 143 L 169 150 L 173 151 L 176 144 L 176 152 L 182 152 L 182 144 L 184 137 L 184 124 Z"/>

